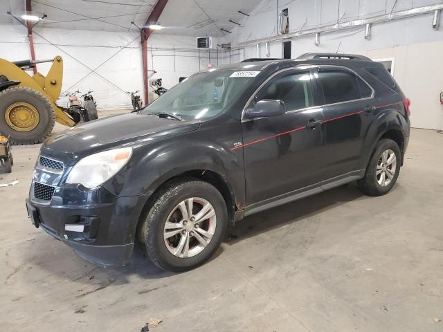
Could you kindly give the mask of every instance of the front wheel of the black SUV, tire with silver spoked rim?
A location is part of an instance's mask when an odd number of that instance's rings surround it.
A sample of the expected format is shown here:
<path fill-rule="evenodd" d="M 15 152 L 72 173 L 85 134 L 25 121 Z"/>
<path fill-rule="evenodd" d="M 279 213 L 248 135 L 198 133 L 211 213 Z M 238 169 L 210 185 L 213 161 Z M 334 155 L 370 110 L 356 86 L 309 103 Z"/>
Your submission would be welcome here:
<path fill-rule="evenodd" d="M 188 199 L 190 198 L 194 199 L 192 204 L 193 216 L 198 217 L 200 209 L 203 206 L 208 206 L 206 203 L 210 203 L 213 210 L 208 211 L 215 212 L 215 216 L 201 219 L 197 226 L 195 223 L 198 220 L 192 222 L 192 218 L 188 218 L 186 226 L 172 229 L 173 232 L 179 230 L 179 233 L 165 239 L 167 235 L 163 233 L 165 232 L 166 221 L 168 220 L 170 224 L 174 222 L 182 224 L 180 220 L 185 218 L 177 207 L 183 201 L 189 202 Z M 187 204 L 185 203 L 183 206 L 188 207 Z M 186 208 L 186 210 L 189 209 Z M 142 216 L 142 223 L 138 229 L 138 239 L 145 243 L 147 255 L 156 266 L 172 272 L 191 270 L 208 261 L 219 247 L 228 225 L 226 203 L 220 192 L 213 185 L 193 178 L 181 179 L 165 185 L 153 197 L 146 212 L 147 214 L 145 213 L 145 216 Z M 204 212 L 204 214 L 206 213 Z M 168 228 L 166 229 L 167 232 L 171 231 Z M 183 235 L 183 232 L 187 235 Z M 204 238 L 201 232 L 212 234 L 212 238 Z M 179 250 L 182 239 L 186 239 L 188 235 L 189 250 L 184 249 L 186 244 L 183 245 L 183 250 Z M 206 246 L 201 244 L 201 240 L 197 239 L 197 235 L 206 242 Z M 174 246 L 176 247 L 174 248 Z M 179 253 L 174 255 L 170 250 L 177 250 Z"/>

